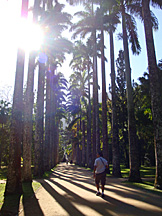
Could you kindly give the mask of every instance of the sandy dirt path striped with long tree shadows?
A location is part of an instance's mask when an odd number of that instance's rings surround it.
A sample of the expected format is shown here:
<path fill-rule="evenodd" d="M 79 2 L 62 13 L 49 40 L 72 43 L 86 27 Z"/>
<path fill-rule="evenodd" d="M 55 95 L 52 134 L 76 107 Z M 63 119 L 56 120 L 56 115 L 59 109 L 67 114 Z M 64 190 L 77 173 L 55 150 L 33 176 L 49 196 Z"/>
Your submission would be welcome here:
<path fill-rule="evenodd" d="M 92 173 L 74 165 L 60 164 L 50 179 L 40 183 L 19 216 L 162 215 L 161 196 L 135 189 L 121 179 L 107 178 L 105 197 L 97 197 Z"/>

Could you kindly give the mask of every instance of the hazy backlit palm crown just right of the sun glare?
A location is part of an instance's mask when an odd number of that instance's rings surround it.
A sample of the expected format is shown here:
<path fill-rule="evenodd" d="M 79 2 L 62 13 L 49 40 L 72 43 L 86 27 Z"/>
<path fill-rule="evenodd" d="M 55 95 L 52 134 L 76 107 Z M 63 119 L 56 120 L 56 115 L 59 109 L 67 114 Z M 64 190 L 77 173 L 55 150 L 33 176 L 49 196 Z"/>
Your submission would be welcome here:
<path fill-rule="evenodd" d="M 65 53 L 70 53 L 72 43 L 61 36 L 61 33 L 71 24 L 72 16 L 63 12 L 63 4 L 55 4 L 47 11 L 41 11 L 40 24 L 45 30 L 45 42 L 42 47 L 51 61 L 62 63 Z"/>

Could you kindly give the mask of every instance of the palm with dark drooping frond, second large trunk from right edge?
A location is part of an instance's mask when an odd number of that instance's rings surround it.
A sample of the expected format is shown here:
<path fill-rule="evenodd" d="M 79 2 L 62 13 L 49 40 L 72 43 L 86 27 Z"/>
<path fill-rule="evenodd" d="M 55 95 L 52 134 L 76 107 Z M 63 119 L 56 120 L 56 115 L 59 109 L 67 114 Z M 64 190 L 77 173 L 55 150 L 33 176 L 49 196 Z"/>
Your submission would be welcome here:
<path fill-rule="evenodd" d="M 122 18 L 122 39 L 124 47 L 124 58 L 126 67 L 126 83 L 127 83 L 127 106 L 128 106 L 128 137 L 129 137 L 129 158 L 130 158 L 130 173 L 129 181 L 140 182 L 139 171 L 139 148 L 136 135 L 136 124 L 134 116 L 134 105 L 131 84 L 131 68 L 129 59 L 128 39 L 131 42 L 131 48 L 134 54 L 139 54 L 141 47 L 137 37 L 137 29 L 135 19 L 126 13 L 126 10 L 131 7 L 131 3 L 126 0 L 117 1 L 117 10 Z"/>

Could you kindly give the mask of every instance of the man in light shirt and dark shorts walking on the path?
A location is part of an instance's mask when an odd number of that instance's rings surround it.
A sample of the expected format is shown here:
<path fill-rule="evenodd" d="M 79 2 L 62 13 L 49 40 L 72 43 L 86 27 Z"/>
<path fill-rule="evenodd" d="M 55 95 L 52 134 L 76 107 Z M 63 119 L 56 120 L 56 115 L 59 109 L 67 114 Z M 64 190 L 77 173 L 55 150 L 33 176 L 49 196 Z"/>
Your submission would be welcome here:
<path fill-rule="evenodd" d="M 97 158 L 94 162 L 94 172 L 93 176 L 95 178 L 96 183 L 96 196 L 99 196 L 100 193 L 100 182 L 101 182 L 101 196 L 104 197 L 104 187 L 106 183 L 106 172 L 105 169 L 108 168 L 108 162 L 105 158 L 103 158 L 103 154 L 101 151 L 97 152 Z"/>

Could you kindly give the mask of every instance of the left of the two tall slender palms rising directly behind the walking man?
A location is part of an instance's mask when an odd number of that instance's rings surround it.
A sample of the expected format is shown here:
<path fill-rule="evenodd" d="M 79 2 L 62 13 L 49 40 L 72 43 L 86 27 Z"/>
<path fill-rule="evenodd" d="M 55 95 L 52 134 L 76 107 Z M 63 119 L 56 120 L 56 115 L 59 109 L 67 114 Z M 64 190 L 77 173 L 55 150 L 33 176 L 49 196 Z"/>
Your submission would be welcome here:
<path fill-rule="evenodd" d="M 98 18 L 93 11 L 93 3 L 91 6 L 86 5 L 87 11 L 76 13 L 82 19 L 74 24 L 71 30 L 75 30 L 73 37 L 80 34 L 85 37 L 91 34 L 91 46 L 93 47 L 93 159 L 96 157 L 96 151 L 100 149 L 99 137 L 99 107 L 98 107 L 98 74 L 97 74 L 97 44 L 96 30 L 99 28 Z"/>

